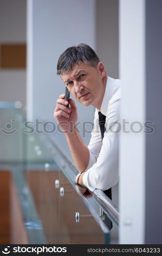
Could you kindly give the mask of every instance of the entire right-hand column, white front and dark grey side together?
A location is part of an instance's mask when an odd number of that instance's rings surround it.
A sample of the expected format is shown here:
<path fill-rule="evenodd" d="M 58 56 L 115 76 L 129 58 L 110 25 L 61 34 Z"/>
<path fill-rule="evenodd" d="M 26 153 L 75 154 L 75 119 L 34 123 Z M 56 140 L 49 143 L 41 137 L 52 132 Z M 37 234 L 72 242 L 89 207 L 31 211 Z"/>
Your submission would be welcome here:
<path fill-rule="evenodd" d="M 121 121 L 143 128 L 120 137 L 120 244 L 161 244 L 162 2 L 121 0 L 119 10 Z"/>

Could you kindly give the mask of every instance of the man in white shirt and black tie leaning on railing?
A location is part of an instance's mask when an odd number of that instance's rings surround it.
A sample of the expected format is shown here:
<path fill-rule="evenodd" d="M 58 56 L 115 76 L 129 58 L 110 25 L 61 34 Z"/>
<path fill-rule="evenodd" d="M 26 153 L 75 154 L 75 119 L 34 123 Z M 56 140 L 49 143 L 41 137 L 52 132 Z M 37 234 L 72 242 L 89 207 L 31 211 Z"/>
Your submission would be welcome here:
<path fill-rule="evenodd" d="M 111 198 L 111 187 L 118 182 L 120 80 L 107 76 L 104 65 L 86 44 L 69 47 L 60 55 L 57 74 L 78 102 L 96 108 L 88 146 L 75 127 L 75 101 L 70 98 L 67 108 L 68 102 L 62 94 L 54 111 L 80 172 L 75 180 L 77 187 L 85 197 L 99 188 L 106 190 L 105 194 Z M 70 133 L 71 128 L 73 133 Z"/>

